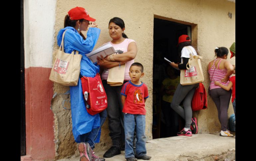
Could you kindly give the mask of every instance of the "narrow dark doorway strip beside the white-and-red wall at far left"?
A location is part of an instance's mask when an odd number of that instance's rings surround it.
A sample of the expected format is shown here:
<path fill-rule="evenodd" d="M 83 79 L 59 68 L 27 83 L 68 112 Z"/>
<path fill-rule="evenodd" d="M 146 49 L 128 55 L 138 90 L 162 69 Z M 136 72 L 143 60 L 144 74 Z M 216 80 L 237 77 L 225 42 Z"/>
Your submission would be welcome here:
<path fill-rule="evenodd" d="M 26 126 L 25 126 L 25 75 L 24 75 L 24 22 L 23 22 L 23 0 L 21 0 L 21 106 L 20 106 L 20 155 L 26 155 Z"/>

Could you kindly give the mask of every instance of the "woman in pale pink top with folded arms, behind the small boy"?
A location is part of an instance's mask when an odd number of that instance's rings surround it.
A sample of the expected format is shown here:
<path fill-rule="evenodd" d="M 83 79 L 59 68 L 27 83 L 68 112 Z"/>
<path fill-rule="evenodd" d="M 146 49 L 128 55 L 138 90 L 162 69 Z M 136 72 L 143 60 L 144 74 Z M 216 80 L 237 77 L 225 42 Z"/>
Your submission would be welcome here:
<path fill-rule="evenodd" d="M 108 56 L 104 63 L 99 64 L 101 69 L 104 69 L 101 74 L 102 84 L 107 94 L 107 114 L 109 136 L 112 139 L 112 147 L 104 153 L 105 158 L 110 158 L 121 153 L 124 148 L 124 126 L 123 126 L 123 105 L 121 102 L 122 85 L 110 86 L 107 83 L 109 69 L 125 64 L 124 82 L 129 81 L 129 68 L 134 62 L 137 55 L 136 42 L 124 34 L 124 21 L 118 17 L 114 17 L 109 21 L 108 32 L 111 37 L 110 43 L 114 47 L 117 54 Z M 118 73 L 116 73 L 118 75 Z"/>

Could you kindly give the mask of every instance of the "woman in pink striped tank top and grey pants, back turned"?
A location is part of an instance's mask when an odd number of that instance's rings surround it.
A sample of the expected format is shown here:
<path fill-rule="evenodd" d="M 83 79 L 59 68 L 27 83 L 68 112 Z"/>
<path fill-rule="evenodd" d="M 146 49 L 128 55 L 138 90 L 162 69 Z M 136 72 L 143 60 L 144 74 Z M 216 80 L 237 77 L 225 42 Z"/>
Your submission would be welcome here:
<path fill-rule="evenodd" d="M 220 136 L 233 135 L 229 133 L 227 129 L 227 110 L 229 101 L 231 98 L 231 90 L 226 91 L 220 86 L 214 84 L 215 81 L 220 82 L 222 85 L 227 86 L 229 83 L 229 76 L 233 74 L 234 67 L 229 61 L 227 61 L 228 49 L 226 47 L 216 47 L 215 56 L 216 59 L 212 60 L 208 64 L 208 73 L 210 78 L 210 94 L 213 102 L 218 110 L 218 119 L 221 124 Z"/>

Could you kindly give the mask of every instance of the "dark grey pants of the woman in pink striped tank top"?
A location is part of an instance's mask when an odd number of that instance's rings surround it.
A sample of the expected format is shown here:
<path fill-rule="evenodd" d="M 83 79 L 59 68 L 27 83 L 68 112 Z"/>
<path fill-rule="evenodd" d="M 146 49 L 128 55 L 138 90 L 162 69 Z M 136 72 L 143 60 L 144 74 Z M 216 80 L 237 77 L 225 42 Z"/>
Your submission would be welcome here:
<path fill-rule="evenodd" d="M 226 91 L 222 88 L 215 88 L 210 90 L 211 98 L 218 110 L 218 119 L 221 124 L 221 130 L 227 130 L 227 110 L 230 102 L 232 91 Z"/>

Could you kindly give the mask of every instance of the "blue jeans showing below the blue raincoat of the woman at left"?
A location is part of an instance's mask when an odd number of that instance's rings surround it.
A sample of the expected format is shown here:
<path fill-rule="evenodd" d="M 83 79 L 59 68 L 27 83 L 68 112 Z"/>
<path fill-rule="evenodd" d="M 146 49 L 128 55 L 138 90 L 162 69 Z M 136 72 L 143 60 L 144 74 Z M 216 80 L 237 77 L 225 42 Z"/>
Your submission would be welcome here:
<path fill-rule="evenodd" d="M 103 125 L 103 123 L 106 120 L 107 111 L 104 110 L 104 111 L 100 112 L 99 117 L 100 117 L 100 126 L 99 126 L 99 128 L 93 128 L 90 132 L 87 132 L 87 133 L 82 134 L 80 136 L 81 141 L 82 142 L 88 142 L 90 144 L 91 149 L 95 148 L 94 143 L 96 141 L 97 136 L 100 135 L 100 129 L 101 129 L 101 126 Z"/>

